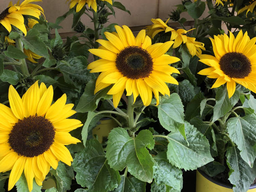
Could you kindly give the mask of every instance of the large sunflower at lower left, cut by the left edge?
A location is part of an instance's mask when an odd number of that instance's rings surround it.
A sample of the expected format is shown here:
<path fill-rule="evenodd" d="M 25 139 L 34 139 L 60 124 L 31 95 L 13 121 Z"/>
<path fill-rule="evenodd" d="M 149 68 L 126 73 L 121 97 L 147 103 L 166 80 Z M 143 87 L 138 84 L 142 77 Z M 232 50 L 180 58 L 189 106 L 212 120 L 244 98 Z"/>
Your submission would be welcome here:
<path fill-rule="evenodd" d="M 56 169 L 58 161 L 70 166 L 73 161 L 64 145 L 80 142 L 68 132 L 82 124 L 67 119 L 76 112 L 73 104 L 65 104 L 65 94 L 51 105 L 52 99 L 52 86 L 47 89 L 36 82 L 22 98 L 10 85 L 10 108 L 0 104 L 0 172 L 11 170 L 8 190 L 23 170 L 31 191 L 34 178 L 42 185 L 50 167 Z"/>

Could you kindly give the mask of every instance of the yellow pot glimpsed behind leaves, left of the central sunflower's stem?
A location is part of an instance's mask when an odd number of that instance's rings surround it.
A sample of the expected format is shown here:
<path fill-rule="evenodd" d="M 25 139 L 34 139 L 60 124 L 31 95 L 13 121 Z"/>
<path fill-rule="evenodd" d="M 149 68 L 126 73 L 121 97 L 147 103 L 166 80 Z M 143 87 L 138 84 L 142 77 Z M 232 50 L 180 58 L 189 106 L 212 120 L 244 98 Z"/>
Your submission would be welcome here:
<path fill-rule="evenodd" d="M 100 124 L 92 129 L 92 135 L 94 138 L 95 135 L 97 135 L 98 141 L 102 143 L 103 139 L 105 140 L 108 138 L 108 133 L 110 133 L 110 131 L 116 127 L 118 127 L 118 124 L 115 122 L 115 120 L 110 118 L 101 119 Z"/>

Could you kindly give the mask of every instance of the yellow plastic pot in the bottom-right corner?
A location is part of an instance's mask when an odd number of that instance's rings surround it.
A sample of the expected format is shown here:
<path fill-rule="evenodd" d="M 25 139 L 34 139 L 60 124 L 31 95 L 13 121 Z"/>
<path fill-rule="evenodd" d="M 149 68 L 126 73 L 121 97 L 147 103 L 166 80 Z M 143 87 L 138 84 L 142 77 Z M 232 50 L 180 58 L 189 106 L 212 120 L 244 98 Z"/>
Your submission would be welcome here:
<path fill-rule="evenodd" d="M 196 192 L 233 192 L 231 186 L 213 180 L 207 174 L 197 170 Z M 247 192 L 256 192 L 256 184 Z"/>

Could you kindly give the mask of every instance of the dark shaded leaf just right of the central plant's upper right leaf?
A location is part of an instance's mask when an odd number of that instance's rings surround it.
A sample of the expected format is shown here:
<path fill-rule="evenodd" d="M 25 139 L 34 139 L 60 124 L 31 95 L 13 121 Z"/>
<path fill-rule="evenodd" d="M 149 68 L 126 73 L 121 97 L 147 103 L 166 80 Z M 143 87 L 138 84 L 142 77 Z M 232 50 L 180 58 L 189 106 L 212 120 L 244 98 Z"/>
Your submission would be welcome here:
<path fill-rule="evenodd" d="M 197 95 L 195 95 L 195 97 L 187 104 L 185 120 L 189 121 L 194 117 L 200 117 L 200 103 L 204 98 L 202 92 L 197 93 Z"/>

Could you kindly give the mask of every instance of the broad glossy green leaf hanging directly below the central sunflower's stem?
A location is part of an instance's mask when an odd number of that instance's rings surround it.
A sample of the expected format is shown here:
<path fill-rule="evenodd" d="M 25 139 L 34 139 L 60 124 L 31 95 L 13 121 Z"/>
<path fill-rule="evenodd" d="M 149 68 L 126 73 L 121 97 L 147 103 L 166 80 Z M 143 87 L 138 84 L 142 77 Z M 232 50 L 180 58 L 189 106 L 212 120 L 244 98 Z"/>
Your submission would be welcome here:
<path fill-rule="evenodd" d="M 114 128 L 108 135 L 106 157 L 110 167 L 122 171 L 125 166 L 137 179 L 152 182 L 154 161 L 148 150 L 154 147 L 153 135 L 142 130 L 131 138 L 123 128 Z"/>

